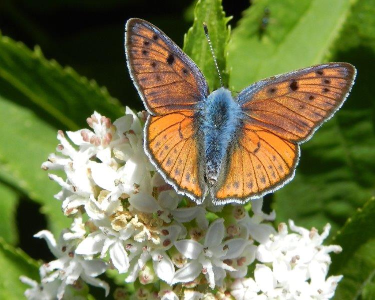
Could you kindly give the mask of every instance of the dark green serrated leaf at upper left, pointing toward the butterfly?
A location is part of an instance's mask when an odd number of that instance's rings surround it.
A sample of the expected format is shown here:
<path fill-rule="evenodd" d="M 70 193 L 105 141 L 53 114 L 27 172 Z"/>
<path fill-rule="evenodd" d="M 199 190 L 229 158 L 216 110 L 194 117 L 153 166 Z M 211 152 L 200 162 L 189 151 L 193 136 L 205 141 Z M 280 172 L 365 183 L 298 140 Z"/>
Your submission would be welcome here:
<path fill-rule="evenodd" d="M 119 117 L 123 107 L 94 80 L 47 60 L 39 47 L 0 35 L 0 95 L 28 106 L 43 119 L 63 129 L 86 126 L 94 110 Z"/>

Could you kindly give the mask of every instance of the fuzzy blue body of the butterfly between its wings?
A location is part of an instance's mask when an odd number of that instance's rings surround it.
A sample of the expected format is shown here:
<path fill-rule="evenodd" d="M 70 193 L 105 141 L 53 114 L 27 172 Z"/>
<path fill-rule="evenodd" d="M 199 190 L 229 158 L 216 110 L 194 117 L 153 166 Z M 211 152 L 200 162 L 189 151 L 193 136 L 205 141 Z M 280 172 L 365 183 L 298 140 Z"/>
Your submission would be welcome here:
<path fill-rule="evenodd" d="M 204 103 L 203 135 L 206 177 L 209 183 L 217 180 L 228 146 L 240 122 L 242 111 L 230 91 L 224 87 L 213 91 Z"/>

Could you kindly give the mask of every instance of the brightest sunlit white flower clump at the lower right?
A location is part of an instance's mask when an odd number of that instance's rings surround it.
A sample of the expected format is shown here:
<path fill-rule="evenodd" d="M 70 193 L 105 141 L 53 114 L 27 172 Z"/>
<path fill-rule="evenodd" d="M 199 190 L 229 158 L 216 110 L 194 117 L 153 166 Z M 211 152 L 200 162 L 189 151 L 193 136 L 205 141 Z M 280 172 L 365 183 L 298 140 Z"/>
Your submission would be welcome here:
<path fill-rule="evenodd" d="M 328 236 L 329 224 L 321 235 L 315 228 L 307 230 L 295 226 L 291 220 L 289 226 L 296 233 L 288 233 L 286 224 L 281 223 L 279 232 L 271 234 L 258 246 L 256 258 L 267 265 L 256 264 L 255 280 L 246 281 L 248 286 L 241 287 L 243 280 L 234 281 L 231 293 L 236 299 L 254 292 L 257 296 L 253 294 L 253 298 L 266 296 L 267 299 L 329 299 L 333 296 L 342 276 L 325 278 L 331 261 L 328 253 L 339 252 L 341 247 L 322 245 Z"/>

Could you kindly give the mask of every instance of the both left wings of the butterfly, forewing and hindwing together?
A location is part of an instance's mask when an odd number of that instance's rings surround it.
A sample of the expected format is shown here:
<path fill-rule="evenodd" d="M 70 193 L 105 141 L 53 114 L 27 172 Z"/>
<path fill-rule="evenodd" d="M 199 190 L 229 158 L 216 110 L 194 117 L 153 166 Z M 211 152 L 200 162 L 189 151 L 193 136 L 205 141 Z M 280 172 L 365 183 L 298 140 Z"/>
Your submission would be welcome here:
<path fill-rule="evenodd" d="M 202 202 L 206 185 L 195 113 L 208 96 L 207 82 L 195 63 L 145 20 L 127 22 L 125 44 L 131 77 L 149 112 L 145 151 L 180 194 Z"/>

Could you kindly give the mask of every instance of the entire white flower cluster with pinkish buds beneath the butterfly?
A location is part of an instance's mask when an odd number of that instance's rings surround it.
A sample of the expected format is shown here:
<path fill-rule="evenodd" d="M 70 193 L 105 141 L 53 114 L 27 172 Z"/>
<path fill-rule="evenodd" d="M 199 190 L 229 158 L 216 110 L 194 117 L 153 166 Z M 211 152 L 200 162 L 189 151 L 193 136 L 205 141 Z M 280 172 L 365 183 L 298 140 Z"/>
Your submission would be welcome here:
<path fill-rule="evenodd" d="M 269 221 L 262 199 L 241 205 L 196 205 L 178 195 L 159 175 L 143 151 L 141 121 L 145 113 L 114 121 L 97 112 L 87 119 L 91 129 L 58 132 L 59 154 L 42 168 L 61 185 L 55 197 L 73 219 L 56 242 L 43 230 L 57 257 L 40 267 L 41 283 L 25 276 L 29 299 L 62 299 L 83 293 L 85 283 L 109 285 L 97 278 L 107 269 L 135 282 L 136 299 L 327 299 L 341 276 L 326 278 L 329 252 L 327 225 L 317 230 L 297 227 L 294 233 Z M 248 207 L 247 205 L 246 207 Z M 256 261 L 256 264 L 254 263 Z M 255 265 L 254 265 L 255 264 Z M 253 266 L 254 265 L 254 266 Z M 154 283 L 154 284 L 148 284 Z M 117 299 L 129 298 L 124 287 Z"/>

